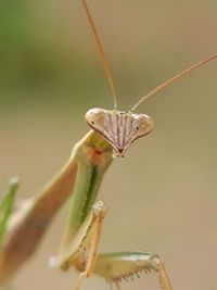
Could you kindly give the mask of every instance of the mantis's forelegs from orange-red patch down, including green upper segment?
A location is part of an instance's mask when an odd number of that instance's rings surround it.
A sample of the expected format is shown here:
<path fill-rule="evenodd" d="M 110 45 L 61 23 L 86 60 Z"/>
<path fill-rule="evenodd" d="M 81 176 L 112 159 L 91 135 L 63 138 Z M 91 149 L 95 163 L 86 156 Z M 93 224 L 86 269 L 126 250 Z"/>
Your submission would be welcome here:
<path fill-rule="evenodd" d="M 173 290 L 164 264 L 157 254 L 124 252 L 98 255 L 97 253 L 106 210 L 102 202 L 94 203 L 94 200 L 111 160 L 110 148 L 103 154 L 99 154 L 95 144 L 86 147 L 85 151 L 81 148 L 77 153 L 78 173 L 56 265 L 64 270 L 74 266 L 80 272 L 76 290 L 79 289 L 82 279 L 90 277 L 92 273 L 118 287 L 122 279 L 140 270 L 157 273 L 163 290 Z"/>

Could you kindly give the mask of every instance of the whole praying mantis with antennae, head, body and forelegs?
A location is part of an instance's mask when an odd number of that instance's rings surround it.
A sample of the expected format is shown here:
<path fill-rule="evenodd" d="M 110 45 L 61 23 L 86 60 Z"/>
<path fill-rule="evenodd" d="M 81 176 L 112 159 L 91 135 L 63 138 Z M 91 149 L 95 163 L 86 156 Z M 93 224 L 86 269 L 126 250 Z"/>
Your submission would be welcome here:
<path fill-rule="evenodd" d="M 103 218 L 106 207 L 102 201 L 95 202 L 103 175 L 113 155 L 124 156 L 128 147 L 153 128 L 151 117 L 135 113 L 148 98 L 187 75 L 199 66 L 214 60 L 214 54 L 175 77 L 163 83 L 142 97 L 128 112 L 118 111 L 114 83 L 104 49 L 86 0 L 81 0 L 97 41 L 108 85 L 114 98 L 114 109 L 91 109 L 86 119 L 92 130 L 79 141 L 71 159 L 62 171 L 12 218 L 4 247 L 0 253 L 0 278 L 8 280 L 20 265 L 33 253 L 37 241 L 58 209 L 71 196 L 71 211 L 65 226 L 61 250 L 52 262 L 67 270 L 71 266 L 79 272 L 76 289 L 85 277 L 92 273 L 115 283 L 139 272 L 155 272 L 163 290 L 171 290 L 171 283 L 159 256 L 152 252 L 119 252 L 98 254 Z M 23 240 L 23 242 L 21 242 Z M 18 242 L 17 242 L 18 241 Z M 17 248 L 18 247 L 18 248 Z M 17 255 L 17 249 L 22 254 Z"/>

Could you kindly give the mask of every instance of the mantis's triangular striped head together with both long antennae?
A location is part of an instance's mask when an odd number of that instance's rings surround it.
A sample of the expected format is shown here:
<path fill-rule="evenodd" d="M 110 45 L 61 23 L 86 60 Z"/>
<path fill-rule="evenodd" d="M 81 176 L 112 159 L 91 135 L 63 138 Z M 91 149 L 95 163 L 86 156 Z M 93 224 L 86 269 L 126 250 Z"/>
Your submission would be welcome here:
<path fill-rule="evenodd" d="M 91 13 L 87 5 L 86 0 L 82 0 L 84 8 L 86 10 L 90 27 L 97 42 L 97 49 L 100 54 L 106 78 L 110 85 L 111 92 L 114 99 L 114 110 L 104 110 L 104 109 L 90 109 L 86 114 L 86 119 L 89 126 L 102 135 L 113 147 L 114 152 L 117 156 L 124 156 L 124 153 L 129 148 L 129 146 L 141 138 L 142 136 L 148 135 L 153 128 L 152 118 L 145 114 L 136 114 L 135 110 L 143 103 L 144 100 L 152 97 L 163 88 L 167 87 L 178 78 L 189 74 L 193 70 L 197 68 L 199 66 L 214 60 L 217 58 L 217 53 L 202 60 L 201 62 L 192 65 L 188 70 L 181 72 L 180 74 L 169 78 L 168 80 L 164 81 L 155 89 L 151 90 L 149 93 L 143 96 L 131 109 L 129 112 L 118 111 L 117 110 L 117 100 L 116 93 L 113 83 L 112 73 L 104 53 L 104 49 L 97 31 L 94 22 L 92 20 Z"/>

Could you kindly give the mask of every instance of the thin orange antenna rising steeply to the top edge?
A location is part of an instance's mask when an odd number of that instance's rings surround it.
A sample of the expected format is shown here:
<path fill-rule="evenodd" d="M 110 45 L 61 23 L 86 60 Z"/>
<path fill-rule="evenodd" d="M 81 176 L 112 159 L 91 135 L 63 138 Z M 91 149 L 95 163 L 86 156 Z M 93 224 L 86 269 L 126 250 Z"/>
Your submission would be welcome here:
<path fill-rule="evenodd" d="M 97 42 L 97 49 L 98 49 L 98 52 L 100 54 L 100 58 L 101 58 L 101 61 L 102 61 L 102 64 L 103 64 L 103 67 L 104 67 L 104 71 L 105 71 L 105 74 L 106 74 L 106 77 L 108 80 L 108 85 L 110 85 L 110 88 L 111 88 L 111 91 L 112 91 L 112 94 L 114 98 L 114 109 L 117 109 L 117 99 L 116 99 L 116 93 L 115 93 L 114 81 L 113 81 L 112 73 L 111 73 L 111 70 L 110 70 L 110 66 L 108 66 L 108 63 L 107 63 L 107 60 L 105 56 L 105 52 L 104 52 L 104 49 L 102 46 L 102 41 L 101 41 L 100 36 L 98 34 L 98 30 L 95 28 L 94 22 L 92 20 L 92 16 L 91 16 L 91 13 L 90 13 L 90 10 L 88 8 L 86 0 L 81 0 L 81 1 L 82 1 L 84 7 L 85 7 L 85 11 L 87 13 L 93 37 L 94 37 L 94 40 Z"/>

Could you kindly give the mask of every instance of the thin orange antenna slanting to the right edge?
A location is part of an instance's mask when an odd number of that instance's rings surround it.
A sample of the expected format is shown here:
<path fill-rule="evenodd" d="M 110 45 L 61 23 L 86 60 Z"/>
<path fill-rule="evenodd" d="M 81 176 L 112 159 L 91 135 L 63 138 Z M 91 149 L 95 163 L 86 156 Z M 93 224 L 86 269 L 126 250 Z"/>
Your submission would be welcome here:
<path fill-rule="evenodd" d="M 217 53 L 204 59 L 203 61 L 194 64 L 193 66 L 189 67 L 188 70 L 181 72 L 180 74 L 169 78 L 168 80 L 164 81 L 163 84 L 161 84 L 159 86 L 157 86 L 155 89 L 151 90 L 150 92 L 148 92 L 145 96 L 143 96 L 131 109 L 131 112 L 133 112 L 141 103 L 143 103 L 144 100 L 146 100 L 148 98 L 152 97 L 153 94 L 155 94 L 156 92 L 158 92 L 159 90 L 162 90 L 163 88 L 167 87 L 168 85 L 170 85 L 171 83 L 174 83 L 175 80 L 177 80 L 178 78 L 181 78 L 182 76 L 191 73 L 193 70 L 200 67 L 201 65 L 213 61 L 214 59 L 217 58 Z"/>

